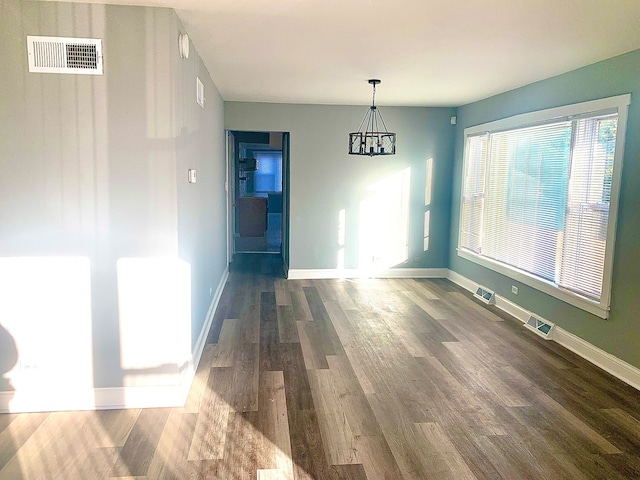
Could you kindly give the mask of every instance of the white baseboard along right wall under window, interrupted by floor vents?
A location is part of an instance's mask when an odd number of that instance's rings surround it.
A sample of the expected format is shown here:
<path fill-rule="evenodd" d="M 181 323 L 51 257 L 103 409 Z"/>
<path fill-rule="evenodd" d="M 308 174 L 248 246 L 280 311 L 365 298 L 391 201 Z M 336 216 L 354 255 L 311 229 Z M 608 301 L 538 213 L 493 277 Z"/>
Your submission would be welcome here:
<path fill-rule="evenodd" d="M 462 288 L 475 292 L 477 283 L 460 275 L 457 272 L 449 270 L 447 278 L 453 283 L 460 285 Z M 496 307 L 507 312 L 513 317 L 517 318 L 521 322 L 526 322 L 529 319 L 529 315 L 536 316 L 535 313 L 529 312 L 506 298 L 500 297 L 496 294 Z M 610 373 L 614 377 L 622 380 L 628 385 L 631 385 L 637 390 L 640 390 L 640 369 L 633 365 L 619 359 L 618 357 L 605 352 L 599 347 L 583 340 L 582 338 L 574 335 L 571 332 L 554 325 L 551 340 L 565 347 L 567 350 L 571 350 L 576 355 L 581 356 L 588 362 L 600 367 L 607 373 Z"/>

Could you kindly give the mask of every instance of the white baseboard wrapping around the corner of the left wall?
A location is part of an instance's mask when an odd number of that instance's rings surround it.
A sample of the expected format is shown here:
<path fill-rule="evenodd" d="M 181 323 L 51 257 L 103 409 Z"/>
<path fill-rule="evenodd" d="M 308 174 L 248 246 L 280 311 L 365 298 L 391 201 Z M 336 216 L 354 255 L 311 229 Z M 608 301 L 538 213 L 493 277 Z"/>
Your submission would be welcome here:
<path fill-rule="evenodd" d="M 56 391 L 45 387 L 28 391 L 0 392 L 0 413 L 184 406 L 228 277 L 229 268 L 227 267 L 211 299 L 204 325 L 193 348 L 192 358 L 178 377 L 178 383 L 76 390 L 57 389 Z"/>

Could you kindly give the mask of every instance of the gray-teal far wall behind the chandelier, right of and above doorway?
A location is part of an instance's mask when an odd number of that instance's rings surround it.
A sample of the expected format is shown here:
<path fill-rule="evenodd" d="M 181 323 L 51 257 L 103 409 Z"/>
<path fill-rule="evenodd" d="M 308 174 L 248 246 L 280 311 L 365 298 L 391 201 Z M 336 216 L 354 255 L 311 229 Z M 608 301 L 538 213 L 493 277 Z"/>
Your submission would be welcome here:
<path fill-rule="evenodd" d="M 389 130 L 398 134 L 397 155 L 348 155 L 348 134 L 358 128 L 366 109 L 225 102 L 225 127 L 229 130 L 291 134 L 290 269 L 337 268 L 338 216 L 342 209 L 346 216 L 344 267 L 366 268 L 359 258 L 362 202 L 371 198 L 370 186 L 408 168 L 409 255 L 407 263 L 397 266 L 447 266 L 454 132 L 449 120 L 454 109 L 381 107 Z M 431 245 L 424 252 L 425 162 L 429 158 L 433 159 L 434 172 L 428 207 L 432 211 Z"/>

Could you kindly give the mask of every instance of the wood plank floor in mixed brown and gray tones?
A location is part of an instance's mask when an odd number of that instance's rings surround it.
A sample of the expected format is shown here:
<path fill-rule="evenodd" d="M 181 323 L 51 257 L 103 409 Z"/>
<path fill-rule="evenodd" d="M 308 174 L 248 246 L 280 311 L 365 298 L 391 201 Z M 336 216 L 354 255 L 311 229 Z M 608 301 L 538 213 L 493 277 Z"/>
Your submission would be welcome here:
<path fill-rule="evenodd" d="M 239 256 L 184 408 L 0 415 L 0 479 L 640 478 L 640 392 L 446 280 Z"/>

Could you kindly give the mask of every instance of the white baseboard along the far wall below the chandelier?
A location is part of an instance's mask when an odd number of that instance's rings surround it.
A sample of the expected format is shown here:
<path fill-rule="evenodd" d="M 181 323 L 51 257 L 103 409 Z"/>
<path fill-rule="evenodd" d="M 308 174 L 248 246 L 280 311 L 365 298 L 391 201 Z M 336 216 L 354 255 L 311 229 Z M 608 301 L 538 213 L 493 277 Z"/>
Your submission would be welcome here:
<path fill-rule="evenodd" d="M 289 280 L 323 280 L 333 278 L 446 278 L 446 268 L 387 268 L 364 269 L 290 269 Z"/>

